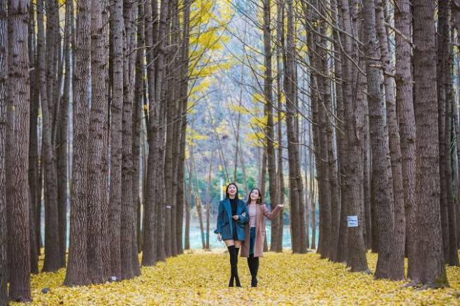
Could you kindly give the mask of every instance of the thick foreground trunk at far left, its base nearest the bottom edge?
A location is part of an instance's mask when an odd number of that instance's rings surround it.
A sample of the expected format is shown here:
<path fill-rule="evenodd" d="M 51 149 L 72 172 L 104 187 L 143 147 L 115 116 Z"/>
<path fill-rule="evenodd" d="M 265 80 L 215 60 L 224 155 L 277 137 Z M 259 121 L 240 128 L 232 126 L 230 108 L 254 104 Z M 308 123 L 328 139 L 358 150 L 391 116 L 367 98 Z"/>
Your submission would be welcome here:
<path fill-rule="evenodd" d="M 4 1 L 3 1 L 4 2 Z M 9 298 L 31 301 L 29 245 L 29 1 L 8 1 L 8 136 L 12 143 L 6 151 L 6 168 L 12 168 L 8 180 L 8 259 Z M 3 27 L 3 29 L 5 29 Z M 3 79 L 4 80 L 4 79 Z M 4 82 L 3 82 L 4 84 Z M 5 193 L 3 193 L 5 194 Z M 3 223 L 4 224 L 4 223 Z M 2 272 L 3 273 L 3 272 Z"/>

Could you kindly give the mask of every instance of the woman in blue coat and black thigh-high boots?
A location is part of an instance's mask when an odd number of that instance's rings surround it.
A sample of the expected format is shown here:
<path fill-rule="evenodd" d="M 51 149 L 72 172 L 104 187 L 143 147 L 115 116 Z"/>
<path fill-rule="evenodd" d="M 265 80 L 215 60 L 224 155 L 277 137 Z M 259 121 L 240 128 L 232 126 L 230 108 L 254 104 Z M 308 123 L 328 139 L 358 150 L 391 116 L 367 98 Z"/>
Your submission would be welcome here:
<path fill-rule="evenodd" d="M 217 240 L 224 240 L 230 254 L 230 281 L 229 287 L 233 287 L 233 281 L 240 287 L 238 277 L 238 252 L 241 243 L 246 239 L 245 224 L 249 221 L 247 205 L 238 198 L 238 187 L 231 183 L 225 191 L 226 198 L 219 203 L 217 215 Z"/>

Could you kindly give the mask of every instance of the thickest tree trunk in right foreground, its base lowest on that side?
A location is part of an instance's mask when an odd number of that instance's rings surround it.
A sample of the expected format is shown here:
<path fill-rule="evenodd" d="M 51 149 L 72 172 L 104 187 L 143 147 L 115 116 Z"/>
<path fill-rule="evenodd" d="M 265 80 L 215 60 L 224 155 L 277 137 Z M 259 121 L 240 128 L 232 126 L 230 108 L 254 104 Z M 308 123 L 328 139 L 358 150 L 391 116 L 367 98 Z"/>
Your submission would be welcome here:
<path fill-rule="evenodd" d="M 417 261 L 412 281 L 424 286 L 448 286 L 443 264 L 439 208 L 438 108 L 436 105 L 435 3 L 412 3 L 415 84 Z M 422 234 L 423 233 L 423 234 Z"/>

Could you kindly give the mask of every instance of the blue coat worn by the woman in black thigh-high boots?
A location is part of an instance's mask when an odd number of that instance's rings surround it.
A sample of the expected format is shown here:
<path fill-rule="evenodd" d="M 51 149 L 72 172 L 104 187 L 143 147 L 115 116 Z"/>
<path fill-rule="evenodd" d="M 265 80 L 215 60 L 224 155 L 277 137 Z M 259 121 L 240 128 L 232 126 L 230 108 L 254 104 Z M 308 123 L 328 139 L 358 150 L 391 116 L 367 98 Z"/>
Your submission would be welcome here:
<path fill-rule="evenodd" d="M 214 233 L 220 233 L 222 235 L 222 240 L 233 239 L 232 222 L 236 222 L 236 235 L 238 240 L 244 241 L 246 239 L 245 224 L 249 222 L 249 211 L 247 210 L 247 205 L 241 200 L 238 200 L 236 214 L 238 214 L 238 220 L 232 218 L 229 198 L 220 201 L 219 214 L 217 214 L 217 228 Z"/>

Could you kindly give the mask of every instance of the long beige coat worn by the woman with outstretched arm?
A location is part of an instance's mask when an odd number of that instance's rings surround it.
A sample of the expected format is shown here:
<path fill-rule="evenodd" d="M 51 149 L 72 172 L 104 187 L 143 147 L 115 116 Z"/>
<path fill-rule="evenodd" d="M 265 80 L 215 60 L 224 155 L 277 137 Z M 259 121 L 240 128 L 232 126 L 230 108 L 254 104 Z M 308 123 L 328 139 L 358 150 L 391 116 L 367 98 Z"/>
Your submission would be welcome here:
<path fill-rule="evenodd" d="M 265 217 L 273 219 L 282 207 L 276 206 L 272 212 L 268 212 L 265 204 L 256 204 L 256 240 L 254 243 L 254 257 L 264 256 L 264 240 L 265 240 Z M 249 210 L 249 207 L 247 208 Z M 249 216 L 248 216 L 249 217 Z M 249 223 L 245 224 L 246 240 L 241 245 L 241 257 L 249 257 L 250 244 L 250 229 Z"/>

